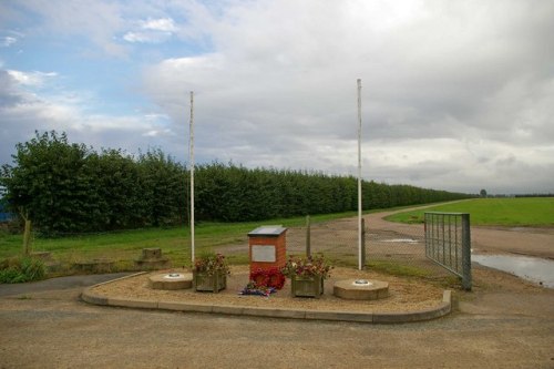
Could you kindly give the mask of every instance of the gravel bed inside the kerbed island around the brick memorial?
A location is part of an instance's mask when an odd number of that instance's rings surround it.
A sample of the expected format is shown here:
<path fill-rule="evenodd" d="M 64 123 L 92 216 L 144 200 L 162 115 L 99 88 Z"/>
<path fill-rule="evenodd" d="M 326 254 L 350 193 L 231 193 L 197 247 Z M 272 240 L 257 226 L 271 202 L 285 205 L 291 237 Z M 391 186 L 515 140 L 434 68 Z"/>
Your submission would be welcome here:
<path fill-rule="evenodd" d="M 291 297 L 289 280 L 287 280 L 281 290 L 273 294 L 270 297 L 243 296 L 239 295 L 239 291 L 248 283 L 248 266 L 234 266 L 232 275 L 227 280 L 227 288 L 219 294 L 196 293 L 193 289 L 158 290 L 148 287 L 148 276 L 161 273 L 164 271 L 140 275 L 96 286 L 93 288 L 93 293 L 112 298 L 123 297 L 189 304 L 362 312 L 409 312 L 437 308 L 442 303 L 443 293 L 442 288 L 421 280 L 410 280 L 376 271 L 335 268 L 331 278 L 325 281 L 325 294 L 319 299 Z M 345 300 L 335 297 L 332 295 L 335 281 L 349 278 L 387 281 L 389 283 L 389 297 L 371 301 Z"/>

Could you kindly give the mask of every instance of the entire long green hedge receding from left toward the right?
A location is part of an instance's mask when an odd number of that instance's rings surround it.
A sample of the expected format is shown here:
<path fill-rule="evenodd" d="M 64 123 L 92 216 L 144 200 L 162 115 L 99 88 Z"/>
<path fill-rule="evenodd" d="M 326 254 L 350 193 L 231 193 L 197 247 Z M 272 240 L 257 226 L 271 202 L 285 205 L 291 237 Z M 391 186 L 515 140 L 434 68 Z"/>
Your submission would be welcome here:
<path fill-rule="evenodd" d="M 161 150 L 136 156 L 35 133 L 2 165 L 8 208 L 44 235 L 173 226 L 189 221 L 189 171 Z M 362 182 L 363 209 L 433 203 L 466 194 Z M 320 172 L 195 166 L 195 218 L 245 222 L 357 209 L 357 178 Z"/>

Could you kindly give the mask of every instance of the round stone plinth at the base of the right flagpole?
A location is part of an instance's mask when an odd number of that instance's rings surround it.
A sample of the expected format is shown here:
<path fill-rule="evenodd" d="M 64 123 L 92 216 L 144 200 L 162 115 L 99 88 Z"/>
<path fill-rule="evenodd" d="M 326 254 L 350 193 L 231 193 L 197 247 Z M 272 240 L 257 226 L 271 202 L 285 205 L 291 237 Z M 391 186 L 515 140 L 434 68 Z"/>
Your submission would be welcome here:
<path fill-rule="evenodd" d="M 332 293 L 347 300 L 378 300 L 389 296 L 389 284 L 375 279 L 342 279 L 335 283 Z"/>

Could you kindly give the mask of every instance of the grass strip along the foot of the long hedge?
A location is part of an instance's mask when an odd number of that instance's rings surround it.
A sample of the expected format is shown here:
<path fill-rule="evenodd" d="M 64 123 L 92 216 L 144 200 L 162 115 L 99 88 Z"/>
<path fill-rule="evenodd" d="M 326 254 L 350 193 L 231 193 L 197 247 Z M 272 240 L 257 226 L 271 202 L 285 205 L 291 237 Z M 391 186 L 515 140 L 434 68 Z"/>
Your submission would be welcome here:
<path fill-rule="evenodd" d="M 312 216 L 312 222 L 352 217 L 357 213 L 341 213 Z M 195 252 L 202 253 L 220 245 L 248 244 L 247 234 L 263 224 L 280 224 L 285 227 L 304 226 L 305 217 L 271 219 L 256 223 L 201 223 L 195 227 Z M 22 235 L 10 235 L 0 230 L 0 260 L 21 255 Z M 168 257 L 175 267 L 191 265 L 191 229 L 145 228 L 104 234 L 85 234 L 60 238 L 40 238 L 33 236 L 33 252 L 50 252 L 61 263 L 60 274 L 71 274 L 71 265 L 92 259 L 115 262 L 116 270 L 134 269 L 134 260 L 143 248 L 160 247 L 163 256 Z M 248 263 L 248 255 L 228 256 L 230 264 Z"/>

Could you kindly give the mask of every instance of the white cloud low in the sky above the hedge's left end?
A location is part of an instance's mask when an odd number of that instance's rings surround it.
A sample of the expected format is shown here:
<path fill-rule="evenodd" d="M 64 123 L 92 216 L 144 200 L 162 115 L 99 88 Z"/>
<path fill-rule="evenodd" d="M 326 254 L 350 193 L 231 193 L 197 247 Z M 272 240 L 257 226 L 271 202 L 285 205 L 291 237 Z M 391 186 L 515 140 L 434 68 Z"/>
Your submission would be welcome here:
<path fill-rule="evenodd" d="M 0 157 L 9 157 L 16 143 L 30 140 L 35 130 L 66 132 L 73 142 L 95 148 L 123 147 L 134 153 L 158 145 L 156 137 L 172 135 L 163 114 L 94 114 L 88 103 L 98 100 L 92 92 L 35 91 L 37 86 L 48 88 L 54 76 L 54 72 L 0 70 L 0 132 L 2 141 L 11 143 L 1 145 Z"/>

